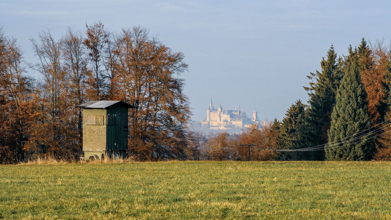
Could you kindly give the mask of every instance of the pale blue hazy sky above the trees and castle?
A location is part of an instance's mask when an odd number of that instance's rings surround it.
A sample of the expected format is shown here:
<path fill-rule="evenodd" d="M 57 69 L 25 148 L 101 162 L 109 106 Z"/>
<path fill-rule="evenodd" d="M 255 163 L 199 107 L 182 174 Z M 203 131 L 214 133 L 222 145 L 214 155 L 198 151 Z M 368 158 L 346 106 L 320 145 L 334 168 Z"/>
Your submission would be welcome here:
<path fill-rule="evenodd" d="M 29 39 L 41 31 L 60 39 L 99 20 L 112 32 L 140 25 L 185 54 L 194 121 L 206 117 L 210 99 L 282 119 L 296 100 L 307 102 L 306 76 L 332 44 L 343 56 L 363 37 L 390 41 L 390 10 L 390 1 L 2 0 L 0 25 L 29 63 L 37 62 Z"/>

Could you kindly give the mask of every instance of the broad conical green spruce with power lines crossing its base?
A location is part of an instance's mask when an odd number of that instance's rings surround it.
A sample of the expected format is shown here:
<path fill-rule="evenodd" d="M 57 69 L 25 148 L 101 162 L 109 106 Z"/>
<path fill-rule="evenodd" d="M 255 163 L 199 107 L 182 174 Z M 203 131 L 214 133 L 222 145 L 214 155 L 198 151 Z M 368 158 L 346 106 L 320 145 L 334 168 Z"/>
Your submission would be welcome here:
<path fill-rule="evenodd" d="M 373 135 L 352 140 L 365 134 L 362 131 L 371 127 L 367 95 L 362 85 L 356 51 L 350 49 L 344 68 L 346 72 L 337 90 L 336 104 L 328 131 L 328 144 L 325 146 L 327 160 L 369 160 L 375 149 L 374 139 L 371 138 Z M 359 134 L 354 135 L 356 133 Z"/>

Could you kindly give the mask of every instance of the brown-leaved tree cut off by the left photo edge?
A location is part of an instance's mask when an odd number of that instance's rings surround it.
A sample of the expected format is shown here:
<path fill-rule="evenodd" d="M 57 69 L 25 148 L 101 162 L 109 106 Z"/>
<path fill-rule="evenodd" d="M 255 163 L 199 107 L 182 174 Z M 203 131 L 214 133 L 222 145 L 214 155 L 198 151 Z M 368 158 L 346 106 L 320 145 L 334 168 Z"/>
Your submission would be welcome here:
<path fill-rule="evenodd" d="M 32 112 L 33 80 L 25 75 L 22 51 L 0 28 L 0 164 L 24 159 Z"/>

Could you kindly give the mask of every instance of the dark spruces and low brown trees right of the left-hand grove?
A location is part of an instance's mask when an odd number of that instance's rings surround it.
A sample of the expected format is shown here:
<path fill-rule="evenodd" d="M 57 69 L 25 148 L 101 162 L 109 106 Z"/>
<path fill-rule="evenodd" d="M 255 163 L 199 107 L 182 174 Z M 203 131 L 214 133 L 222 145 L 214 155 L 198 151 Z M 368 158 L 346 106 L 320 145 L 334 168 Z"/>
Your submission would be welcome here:
<path fill-rule="evenodd" d="M 251 160 L 391 160 L 390 46 L 363 38 L 348 52 L 337 56 L 330 47 L 321 70 L 308 76 L 307 104 L 296 101 L 262 129 L 204 137 L 201 157 L 247 160 L 240 144 L 254 144 Z"/>

